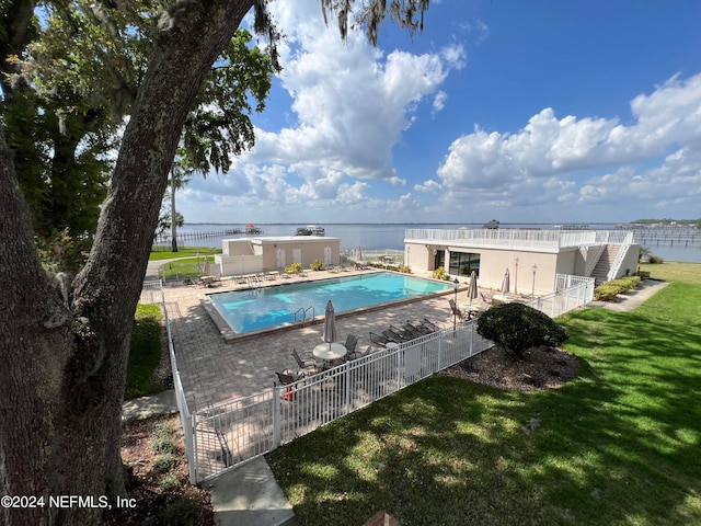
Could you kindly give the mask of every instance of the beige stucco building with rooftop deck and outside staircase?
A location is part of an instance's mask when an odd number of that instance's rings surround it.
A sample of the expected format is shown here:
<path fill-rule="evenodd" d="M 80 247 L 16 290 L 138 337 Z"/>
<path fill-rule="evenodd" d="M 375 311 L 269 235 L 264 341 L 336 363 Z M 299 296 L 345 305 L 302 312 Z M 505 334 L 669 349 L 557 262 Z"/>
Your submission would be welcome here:
<path fill-rule="evenodd" d="M 640 245 L 624 230 L 409 229 L 404 262 L 412 270 L 443 266 L 452 277 L 476 272 L 481 287 L 499 289 L 509 271 L 509 293 L 549 294 L 556 276 L 599 283 L 637 271 Z"/>

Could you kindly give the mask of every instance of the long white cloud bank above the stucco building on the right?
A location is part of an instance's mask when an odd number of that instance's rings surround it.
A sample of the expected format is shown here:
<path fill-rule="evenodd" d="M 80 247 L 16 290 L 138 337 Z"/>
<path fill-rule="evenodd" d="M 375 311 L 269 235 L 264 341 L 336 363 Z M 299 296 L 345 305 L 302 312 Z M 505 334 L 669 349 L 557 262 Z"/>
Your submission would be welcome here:
<path fill-rule="evenodd" d="M 514 134 L 479 128 L 457 138 L 438 168 L 452 198 L 502 194 L 507 202 L 584 203 L 679 199 L 679 185 L 698 198 L 701 188 L 701 75 L 678 77 L 631 102 L 634 121 L 558 118 L 552 108 L 533 115 Z M 671 153 L 668 153 L 671 151 Z M 656 159 L 668 153 L 658 168 Z M 610 173 L 574 181 L 589 171 Z M 543 184 L 544 182 L 544 184 Z M 681 198 L 683 201 L 683 198 Z M 493 202 L 492 202 L 493 203 Z"/>

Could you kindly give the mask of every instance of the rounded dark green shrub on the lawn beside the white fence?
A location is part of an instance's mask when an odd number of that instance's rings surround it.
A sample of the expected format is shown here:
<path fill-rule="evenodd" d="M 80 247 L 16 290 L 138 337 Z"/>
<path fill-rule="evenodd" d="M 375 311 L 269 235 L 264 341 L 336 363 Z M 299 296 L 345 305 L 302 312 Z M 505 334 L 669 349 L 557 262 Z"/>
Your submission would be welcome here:
<path fill-rule="evenodd" d="M 522 357 L 530 347 L 560 345 L 568 338 L 565 328 L 548 315 L 516 302 L 487 309 L 478 319 L 478 334 L 498 343 L 517 357 Z"/>

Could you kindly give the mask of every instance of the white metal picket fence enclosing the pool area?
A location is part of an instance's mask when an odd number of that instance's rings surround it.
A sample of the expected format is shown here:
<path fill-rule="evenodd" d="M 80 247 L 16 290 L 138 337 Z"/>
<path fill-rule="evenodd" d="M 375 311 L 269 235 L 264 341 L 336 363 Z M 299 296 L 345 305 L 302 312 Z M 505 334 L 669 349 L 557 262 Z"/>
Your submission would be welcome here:
<path fill-rule="evenodd" d="M 593 279 L 572 285 L 529 302 L 551 318 L 589 302 Z M 575 276 L 576 277 L 576 276 Z M 200 482 L 264 455 L 353 411 L 490 348 L 475 321 L 458 323 L 393 348 L 384 348 L 289 386 L 189 413 L 180 379 L 165 297 L 161 298 L 183 425 L 189 480 Z"/>

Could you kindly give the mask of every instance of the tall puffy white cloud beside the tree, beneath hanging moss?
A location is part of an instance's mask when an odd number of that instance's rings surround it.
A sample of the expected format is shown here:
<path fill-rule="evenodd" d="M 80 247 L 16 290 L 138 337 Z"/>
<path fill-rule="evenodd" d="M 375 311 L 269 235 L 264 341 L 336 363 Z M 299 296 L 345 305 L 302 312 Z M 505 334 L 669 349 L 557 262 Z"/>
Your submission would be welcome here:
<path fill-rule="evenodd" d="M 307 2 L 313 3 L 313 2 Z M 387 56 L 359 33 L 347 43 L 325 28 L 318 5 L 271 4 L 280 26 L 290 27 L 283 47 L 284 88 L 297 122 L 279 132 L 256 130 L 250 162 L 273 162 L 308 173 L 336 170 L 359 179 L 393 179 L 392 147 L 412 125 L 416 105 L 433 96 L 451 69 L 464 66 L 461 46 Z"/>

